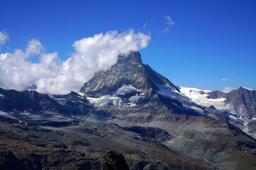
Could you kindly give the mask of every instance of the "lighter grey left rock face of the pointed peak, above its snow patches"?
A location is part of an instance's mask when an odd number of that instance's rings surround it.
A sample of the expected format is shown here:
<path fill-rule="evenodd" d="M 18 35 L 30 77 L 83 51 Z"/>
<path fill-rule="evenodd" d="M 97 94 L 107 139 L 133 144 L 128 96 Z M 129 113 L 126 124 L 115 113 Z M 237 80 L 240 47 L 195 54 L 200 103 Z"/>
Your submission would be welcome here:
<path fill-rule="evenodd" d="M 107 71 L 99 71 L 84 83 L 80 92 L 89 96 L 104 96 L 115 93 L 123 85 L 132 85 L 136 89 L 148 89 L 146 69 L 140 52 L 118 55 L 118 62 Z"/>

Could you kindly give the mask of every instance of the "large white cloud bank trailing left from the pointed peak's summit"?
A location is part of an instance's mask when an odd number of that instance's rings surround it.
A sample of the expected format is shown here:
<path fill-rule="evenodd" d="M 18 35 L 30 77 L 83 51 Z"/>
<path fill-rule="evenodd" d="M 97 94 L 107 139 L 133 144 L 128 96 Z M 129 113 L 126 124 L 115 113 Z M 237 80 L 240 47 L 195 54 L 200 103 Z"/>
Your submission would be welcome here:
<path fill-rule="evenodd" d="M 78 91 L 95 71 L 115 64 L 118 54 L 145 48 L 149 41 L 150 36 L 140 32 L 109 31 L 75 41 L 75 52 L 61 61 L 58 53 L 43 53 L 40 41 L 31 39 L 25 52 L 0 54 L 0 87 L 26 90 L 36 85 L 38 92 L 48 94 Z M 29 62 L 29 55 L 39 55 L 40 62 Z"/>

